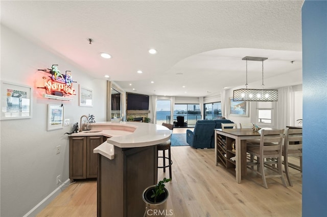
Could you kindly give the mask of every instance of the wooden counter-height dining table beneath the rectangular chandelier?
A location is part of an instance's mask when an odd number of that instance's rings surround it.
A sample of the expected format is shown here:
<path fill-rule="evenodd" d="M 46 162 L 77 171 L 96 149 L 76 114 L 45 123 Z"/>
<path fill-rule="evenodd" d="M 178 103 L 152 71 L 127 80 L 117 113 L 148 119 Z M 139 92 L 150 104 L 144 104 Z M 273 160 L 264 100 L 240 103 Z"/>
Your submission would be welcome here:
<path fill-rule="evenodd" d="M 218 147 L 217 147 L 217 135 L 235 140 L 235 165 L 236 165 L 236 181 L 241 183 L 242 176 L 246 175 L 246 141 L 251 139 L 260 140 L 260 132 L 253 131 L 251 128 L 243 129 L 215 129 L 215 160 L 216 166 L 218 166 Z"/>

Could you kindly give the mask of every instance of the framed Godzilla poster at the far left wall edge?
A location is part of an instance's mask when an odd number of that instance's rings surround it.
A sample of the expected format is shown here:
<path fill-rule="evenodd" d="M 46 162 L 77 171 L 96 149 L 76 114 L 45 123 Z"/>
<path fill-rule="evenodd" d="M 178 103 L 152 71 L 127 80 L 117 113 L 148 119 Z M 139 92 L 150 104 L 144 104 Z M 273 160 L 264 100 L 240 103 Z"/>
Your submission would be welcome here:
<path fill-rule="evenodd" d="M 32 118 L 32 96 L 31 87 L 2 81 L 0 120 Z"/>

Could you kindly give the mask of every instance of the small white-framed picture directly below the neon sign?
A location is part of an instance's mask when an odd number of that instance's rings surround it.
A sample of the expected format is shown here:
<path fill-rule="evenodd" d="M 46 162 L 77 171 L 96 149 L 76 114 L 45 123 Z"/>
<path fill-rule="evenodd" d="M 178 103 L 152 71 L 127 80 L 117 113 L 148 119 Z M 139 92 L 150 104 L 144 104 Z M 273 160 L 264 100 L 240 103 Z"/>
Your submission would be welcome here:
<path fill-rule="evenodd" d="M 63 106 L 48 104 L 48 121 L 46 130 L 63 128 Z"/>

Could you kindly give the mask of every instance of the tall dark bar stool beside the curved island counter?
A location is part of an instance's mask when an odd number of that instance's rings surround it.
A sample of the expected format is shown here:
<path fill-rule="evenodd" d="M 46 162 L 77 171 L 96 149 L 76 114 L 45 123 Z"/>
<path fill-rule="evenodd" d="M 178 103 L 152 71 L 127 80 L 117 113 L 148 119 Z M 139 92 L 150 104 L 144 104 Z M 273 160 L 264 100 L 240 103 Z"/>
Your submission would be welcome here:
<path fill-rule="evenodd" d="M 162 126 L 167 127 L 171 131 L 173 131 L 173 129 L 174 129 L 173 124 L 162 123 Z M 163 168 L 164 173 L 166 173 L 166 168 L 168 167 L 169 168 L 169 178 L 171 179 L 172 178 L 172 164 L 173 164 L 173 161 L 172 161 L 172 158 L 171 158 L 170 146 L 171 146 L 171 138 L 169 140 L 167 140 L 166 142 L 160 143 L 160 144 L 157 145 L 157 155 L 158 155 L 157 165 L 158 165 L 158 158 L 162 158 L 162 164 L 163 164 L 162 167 L 157 166 L 157 171 L 158 171 L 158 168 Z M 168 150 L 168 157 L 166 157 L 166 150 Z M 162 151 L 162 156 L 159 156 L 159 151 Z M 168 162 L 169 162 L 168 165 L 166 165 L 166 159 L 168 159 Z"/>

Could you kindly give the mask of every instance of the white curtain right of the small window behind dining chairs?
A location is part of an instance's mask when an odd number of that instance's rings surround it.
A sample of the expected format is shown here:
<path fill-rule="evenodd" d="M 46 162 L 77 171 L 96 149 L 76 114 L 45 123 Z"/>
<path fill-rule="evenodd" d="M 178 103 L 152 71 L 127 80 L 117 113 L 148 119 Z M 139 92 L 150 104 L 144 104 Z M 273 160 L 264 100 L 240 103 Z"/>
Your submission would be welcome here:
<path fill-rule="evenodd" d="M 276 102 L 276 120 L 275 126 L 278 129 L 284 129 L 291 125 L 291 114 L 293 109 L 292 100 L 294 98 L 293 87 L 284 87 L 278 89 L 278 101 Z"/>

